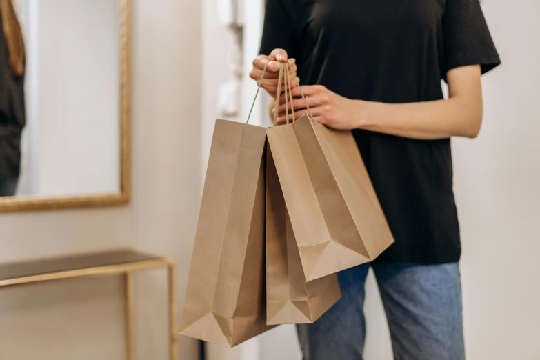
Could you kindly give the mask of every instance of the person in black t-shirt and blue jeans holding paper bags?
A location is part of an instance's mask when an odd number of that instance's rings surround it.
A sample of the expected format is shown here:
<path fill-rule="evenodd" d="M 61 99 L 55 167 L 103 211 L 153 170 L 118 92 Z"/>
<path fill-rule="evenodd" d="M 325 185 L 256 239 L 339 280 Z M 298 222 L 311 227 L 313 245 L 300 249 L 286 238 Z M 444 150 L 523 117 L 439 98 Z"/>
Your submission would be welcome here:
<path fill-rule="evenodd" d="M 464 359 L 450 137 L 477 136 L 480 76 L 500 63 L 478 0 L 268 0 L 261 54 L 250 76 L 268 63 L 269 94 L 289 61 L 314 120 L 352 130 L 396 239 L 374 263 L 341 272 L 343 298 L 298 326 L 304 359 L 362 359 L 370 266 L 394 359 Z"/>

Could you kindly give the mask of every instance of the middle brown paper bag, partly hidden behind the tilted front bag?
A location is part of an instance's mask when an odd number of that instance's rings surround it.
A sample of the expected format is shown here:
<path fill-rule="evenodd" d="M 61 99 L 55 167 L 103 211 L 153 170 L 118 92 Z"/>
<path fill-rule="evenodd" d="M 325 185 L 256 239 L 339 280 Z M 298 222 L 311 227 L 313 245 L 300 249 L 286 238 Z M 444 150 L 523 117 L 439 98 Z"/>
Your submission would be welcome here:
<path fill-rule="evenodd" d="M 306 283 L 272 153 L 267 148 L 266 323 L 313 323 L 339 298 L 336 274 Z"/>

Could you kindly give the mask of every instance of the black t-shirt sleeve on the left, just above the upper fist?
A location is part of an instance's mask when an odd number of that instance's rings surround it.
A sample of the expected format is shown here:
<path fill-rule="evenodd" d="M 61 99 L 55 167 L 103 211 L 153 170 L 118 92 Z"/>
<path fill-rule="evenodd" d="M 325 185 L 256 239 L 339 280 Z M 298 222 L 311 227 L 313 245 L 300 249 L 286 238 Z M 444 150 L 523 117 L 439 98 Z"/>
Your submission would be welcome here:
<path fill-rule="evenodd" d="M 296 57 L 294 14 L 287 0 L 266 0 L 263 37 L 260 54 L 269 55 L 275 48 L 283 49 L 288 57 Z"/>

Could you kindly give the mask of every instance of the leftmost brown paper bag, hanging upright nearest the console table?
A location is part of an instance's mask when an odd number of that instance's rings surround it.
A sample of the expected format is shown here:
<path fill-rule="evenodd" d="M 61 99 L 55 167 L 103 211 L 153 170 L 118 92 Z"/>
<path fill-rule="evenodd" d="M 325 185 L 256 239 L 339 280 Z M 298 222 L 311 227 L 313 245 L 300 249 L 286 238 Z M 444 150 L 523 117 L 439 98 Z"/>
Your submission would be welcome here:
<path fill-rule="evenodd" d="M 181 334 L 232 347 L 266 326 L 264 128 L 217 120 Z"/>

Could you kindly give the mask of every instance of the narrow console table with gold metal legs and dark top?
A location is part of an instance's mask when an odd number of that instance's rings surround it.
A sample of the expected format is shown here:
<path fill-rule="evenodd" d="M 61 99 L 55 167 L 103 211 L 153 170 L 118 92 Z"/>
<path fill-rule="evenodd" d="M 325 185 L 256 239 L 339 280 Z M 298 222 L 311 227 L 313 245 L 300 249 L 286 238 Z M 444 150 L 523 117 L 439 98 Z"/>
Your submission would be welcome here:
<path fill-rule="evenodd" d="M 169 360 L 177 360 L 175 330 L 174 261 L 132 249 L 0 264 L 0 290 L 39 281 L 74 277 L 122 275 L 125 287 L 126 359 L 133 360 L 133 272 L 166 267 L 168 270 Z"/>

